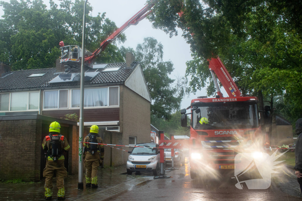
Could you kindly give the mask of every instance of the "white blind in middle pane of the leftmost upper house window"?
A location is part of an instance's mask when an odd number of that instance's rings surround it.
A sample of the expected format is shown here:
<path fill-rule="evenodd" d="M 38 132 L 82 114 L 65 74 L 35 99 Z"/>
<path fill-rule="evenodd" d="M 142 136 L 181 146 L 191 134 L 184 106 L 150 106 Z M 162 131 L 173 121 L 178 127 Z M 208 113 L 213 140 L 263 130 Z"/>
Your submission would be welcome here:
<path fill-rule="evenodd" d="M 28 92 L 11 93 L 11 111 L 27 110 Z"/>

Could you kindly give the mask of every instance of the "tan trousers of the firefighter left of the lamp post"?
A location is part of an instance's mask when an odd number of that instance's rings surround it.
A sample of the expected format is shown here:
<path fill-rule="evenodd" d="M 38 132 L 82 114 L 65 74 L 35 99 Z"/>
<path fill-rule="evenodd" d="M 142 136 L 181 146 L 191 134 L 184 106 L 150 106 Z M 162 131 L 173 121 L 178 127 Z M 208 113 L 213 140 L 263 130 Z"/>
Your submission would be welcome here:
<path fill-rule="evenodd" d="M 58 196 L 65 196 L 64 177 L 67 177 L 67 171 L 64 167 L 64 160 L 58 160 L 57 162 L 46 161 L 46 167 L 43 171 L 43 177 L 45 178 L 45 197 L 52 196 L 53 189 L 53 173 L 56 171 L 56 187 L 58 189 Z"/>

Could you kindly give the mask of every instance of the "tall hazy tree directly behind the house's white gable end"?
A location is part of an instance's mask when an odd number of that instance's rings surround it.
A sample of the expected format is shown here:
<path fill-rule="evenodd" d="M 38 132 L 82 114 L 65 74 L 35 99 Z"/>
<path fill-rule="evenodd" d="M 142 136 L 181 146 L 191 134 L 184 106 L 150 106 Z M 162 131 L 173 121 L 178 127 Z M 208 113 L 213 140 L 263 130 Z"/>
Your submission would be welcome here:
<path fill-rule="evenodd" d="M 151 115 L 158 118 L 170 119 L 171 114 L 180 108 L 185 95 L 187 80 L 184 77 L 171 79 L 173 72 L 172 61 L 163 61 L 163 46 L 155 38 L 144 38 L 138 44 L 136 51 L 131 48 L 121 48 L 125 52 L 133 52 L 136 61 L 140 61 L 143 74 L 151 96 Z"/>

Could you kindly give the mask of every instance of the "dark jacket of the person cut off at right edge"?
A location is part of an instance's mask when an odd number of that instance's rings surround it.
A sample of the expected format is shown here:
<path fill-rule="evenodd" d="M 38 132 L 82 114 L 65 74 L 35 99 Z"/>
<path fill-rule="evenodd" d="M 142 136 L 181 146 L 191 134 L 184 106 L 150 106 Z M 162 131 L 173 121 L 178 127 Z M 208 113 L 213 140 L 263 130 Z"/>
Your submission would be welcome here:
<path fill-rule="evenodd" d="M 302 170 L 302 118 L 298 119 L 296 122 L 296 133 L 299 135 L 297 137 L 297 142 L 295 146 L 295 170 Z"/>

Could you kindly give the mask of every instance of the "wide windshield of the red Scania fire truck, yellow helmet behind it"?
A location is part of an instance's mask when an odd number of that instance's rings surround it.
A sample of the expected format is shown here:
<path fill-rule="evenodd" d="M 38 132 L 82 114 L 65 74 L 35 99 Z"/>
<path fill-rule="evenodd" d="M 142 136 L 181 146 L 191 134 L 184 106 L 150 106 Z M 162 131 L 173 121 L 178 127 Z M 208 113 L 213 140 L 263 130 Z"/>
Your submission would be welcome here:
<path fill-rule="evenodd" d="M 192 111 L 193 128 L 243 129 L 259 126 L 257 105 L 240 102 L 204 103 Z"/>

